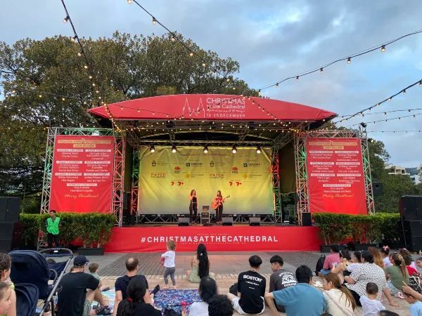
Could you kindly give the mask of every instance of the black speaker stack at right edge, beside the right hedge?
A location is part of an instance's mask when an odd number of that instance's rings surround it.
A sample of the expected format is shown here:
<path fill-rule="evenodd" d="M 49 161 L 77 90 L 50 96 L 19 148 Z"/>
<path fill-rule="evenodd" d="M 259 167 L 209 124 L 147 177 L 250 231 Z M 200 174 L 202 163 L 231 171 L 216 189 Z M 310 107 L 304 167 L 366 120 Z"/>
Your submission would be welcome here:
<path fill-rule="evenodd" d="M 399 199 L 404 245 L 410 251 L 422 250 L 422 197 L 406 195 Z"/>

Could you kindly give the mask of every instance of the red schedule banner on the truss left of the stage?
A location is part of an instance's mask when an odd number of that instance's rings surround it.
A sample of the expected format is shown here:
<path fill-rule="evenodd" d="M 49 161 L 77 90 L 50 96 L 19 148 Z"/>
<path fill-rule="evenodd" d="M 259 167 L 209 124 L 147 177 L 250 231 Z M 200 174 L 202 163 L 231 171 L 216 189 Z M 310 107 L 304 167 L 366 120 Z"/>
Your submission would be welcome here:
<path fill-rule="evenodd" d="M 110 213 L 113 136 L 56 136 L 49 209 Z"/>

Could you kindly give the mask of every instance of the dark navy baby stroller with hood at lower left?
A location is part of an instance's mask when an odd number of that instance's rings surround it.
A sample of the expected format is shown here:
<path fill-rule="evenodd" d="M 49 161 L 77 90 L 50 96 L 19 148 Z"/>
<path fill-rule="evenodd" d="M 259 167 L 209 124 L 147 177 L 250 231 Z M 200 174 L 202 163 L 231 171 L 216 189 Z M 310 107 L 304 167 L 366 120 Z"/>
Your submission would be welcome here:
<path fill-rule="evenodd" d="M 12 258 L 11 280 L 15 284 L 32 284 L 38 289 L 38 297 L 34 297 L 34 291 L 23 296 L 23 301 L 28 298 L 34 300 L 37 305 L 37 300 L 44 300 L 44 305 L 41 308 L 39 315 L 49 310 L 51 305 L 51 315 L 54 316 L 54 298 L 57 292 L 58 284 L 65 274 L 70 261 L 72 261 L 73 254 L 70 249 L 66 248 L 52 248 L 44 249 L 40 252 L 32 250 L 15 250 L 11 251 Z M 56 263 L 54 260 L 47 263 L 47 258 L 65 258 L 65 261 Z M 52 282 L 49 282 L 51 280 Z M 17 293 L 18 295 L 18 293 Z M 30 305 L 30 302 L 27 302 Z M 28 308 L 31 310 L 31 308 Z M 18 315 L 25 316 L 24 313 Z M 34 314 L 32 314 L 34 315 Z"/>

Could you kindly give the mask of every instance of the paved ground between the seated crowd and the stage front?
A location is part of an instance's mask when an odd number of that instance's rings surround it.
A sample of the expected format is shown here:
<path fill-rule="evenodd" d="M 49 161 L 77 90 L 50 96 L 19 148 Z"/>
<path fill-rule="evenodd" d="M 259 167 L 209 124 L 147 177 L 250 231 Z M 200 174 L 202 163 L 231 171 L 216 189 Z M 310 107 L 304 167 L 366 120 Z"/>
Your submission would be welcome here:
<path fill-rule="evenodd" d="M 321 254 L 314 252 L 257 252 L 255 253 L 262 258 L 264 262 L 260 273 L 269 279 L 271 273 L 269 258 L 274 254 L 279 254 L 284 259 L 284 268 L 292 272 L 301 265 L 308 265 L 309 268 L 314 270 L 316 261 Z M 251 253 L 245 252 L 212 252 L 209 254 L 211 271 L 215 272 L 216 280 L 219 287 L 219 292 L 224 294 L 229 290 L 229 287 L 237 281 L 238 272 L 248 270 L 248 258 Z M 91 256 L 89 260 L 91 262 L 97 262 L 100 265 L 99 275 L 103 279 L 103 284 L 109 287 L 114 286 L 115 279 L 118 276 L 124 275 L 124 261 L 129 256 L 136 256 L 140 262 L 140 274 L 146 275 L 150 287 L 154 287 L 155 284 L 160 284 L 162 287 L 162 266 L 159 264 L 159 253 L 152 254 L 106 254 L 105 256 Z M 179 289 L 197 289 L 198 284 L 192 284 L 186 279 L 186 270 L 191 268 L 191 253 L 176 254 L 176 279 L 177 287 Z M 395 301 L 400 305 L 399 308 L 390 308 L 388 302 L 385 303 L 385 307 L 389 310 L 397 312 L 401 316 L 410 315 L 409 304 L 406 301 L 396 299 Z M 238 314 L 235 314 L 238 315 Z M 271 315 L 269 310 L 266 310 L 262 315 Z M 285 315 L 281 313 L 280 315 Z M 356 315 L 362 315 L 362 309 L 358 308 Z"/>

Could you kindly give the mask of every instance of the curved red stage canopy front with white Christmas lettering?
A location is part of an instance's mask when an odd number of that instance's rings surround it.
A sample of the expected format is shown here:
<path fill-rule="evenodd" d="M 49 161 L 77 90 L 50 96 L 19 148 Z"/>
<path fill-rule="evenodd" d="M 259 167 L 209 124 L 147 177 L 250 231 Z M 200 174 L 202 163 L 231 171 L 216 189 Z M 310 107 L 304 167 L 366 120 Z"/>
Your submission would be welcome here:
<path fill-rule="evenodd" d="M 194 119 L 220 121 L 320 121 L 335 113 L 267 98 L 245 98 L 222 94 L 181 94 L 127 100 L 108 105 L 117 120 Z M 105 107 L 94 107 L 91 114 L 108 118 Z M 273 116 L 273 117 L 271 117 Z"/>

